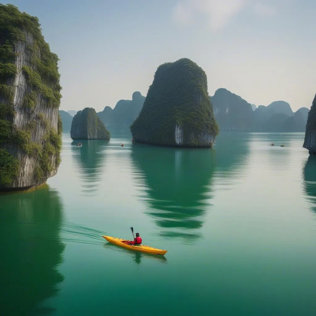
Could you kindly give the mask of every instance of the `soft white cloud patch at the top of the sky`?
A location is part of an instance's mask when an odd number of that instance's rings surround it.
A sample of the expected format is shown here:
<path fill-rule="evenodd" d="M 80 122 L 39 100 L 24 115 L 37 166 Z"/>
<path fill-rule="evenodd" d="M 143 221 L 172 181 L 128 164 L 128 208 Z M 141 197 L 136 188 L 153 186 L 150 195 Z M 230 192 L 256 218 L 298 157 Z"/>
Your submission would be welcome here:
<path fill-rule="evenodd" d="M 263 1 L 263 0 L 262 0 Z M 256 15 L 274 14 L 272 6 L 253 0 L 181 0 L 174 8 L 174 20 L 182 25 L 206 21 L 212 31 L 225 27 L 245 9 Z"/>

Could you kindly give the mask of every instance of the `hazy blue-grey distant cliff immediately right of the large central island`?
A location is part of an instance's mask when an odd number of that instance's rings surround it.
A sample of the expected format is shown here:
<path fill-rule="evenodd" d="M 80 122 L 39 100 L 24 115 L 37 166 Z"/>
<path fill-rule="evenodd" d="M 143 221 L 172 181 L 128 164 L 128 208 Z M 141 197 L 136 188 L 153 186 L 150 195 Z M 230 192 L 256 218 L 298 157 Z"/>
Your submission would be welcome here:
<path fill-rule="evenodd" d="M 253 110 L 250 103 L 226 89 L 210 97 L 216 122 L 222 131 L 250 131 Z"/>

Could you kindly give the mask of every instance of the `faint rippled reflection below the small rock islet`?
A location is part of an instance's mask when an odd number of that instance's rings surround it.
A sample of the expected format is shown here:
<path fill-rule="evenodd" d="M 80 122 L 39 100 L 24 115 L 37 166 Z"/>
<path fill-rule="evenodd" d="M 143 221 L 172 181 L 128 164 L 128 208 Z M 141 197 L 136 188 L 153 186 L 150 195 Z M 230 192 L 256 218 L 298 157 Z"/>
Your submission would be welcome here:
<path fill-rule="evenodd" d="M 71 153 L 76 162 L 76 172 L 82 185 L 82 191 L 89 195 L 96 195 L 102 179 L 102 167 L 105 162 L 104 146 L 109 141 L 101 139 L 82 140 L 82 147 L 71 143 Z"/>

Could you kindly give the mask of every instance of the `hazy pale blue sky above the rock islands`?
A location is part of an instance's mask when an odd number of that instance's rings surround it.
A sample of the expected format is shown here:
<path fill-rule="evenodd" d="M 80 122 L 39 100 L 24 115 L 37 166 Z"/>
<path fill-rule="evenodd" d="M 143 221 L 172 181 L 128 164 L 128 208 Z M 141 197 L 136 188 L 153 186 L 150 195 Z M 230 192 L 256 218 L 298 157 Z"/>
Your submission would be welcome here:
<path fill-rule="evenodd" d="M 147 94 L 157 67 L 190 58 L 209 94 L 295 111 L 316 93 L 315 0 L 17 0 L 60 58 L 62 110 Z"/>

